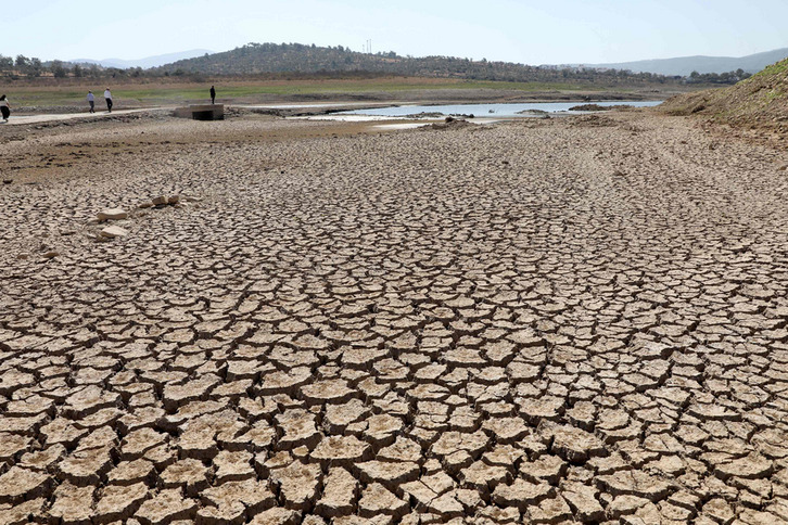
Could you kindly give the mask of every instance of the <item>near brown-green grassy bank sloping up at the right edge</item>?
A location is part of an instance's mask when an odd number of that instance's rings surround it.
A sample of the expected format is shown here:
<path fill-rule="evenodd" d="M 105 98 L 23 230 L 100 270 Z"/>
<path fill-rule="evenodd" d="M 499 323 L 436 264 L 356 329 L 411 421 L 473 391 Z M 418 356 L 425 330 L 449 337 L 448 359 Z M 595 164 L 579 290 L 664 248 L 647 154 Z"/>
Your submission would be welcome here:
<path fill-rule="evenodd" d="M 788 137 L 788 59 L 729 88 L 669 99 L 660 111 L 709 115 L 715 123 L 767 129 Z"/>

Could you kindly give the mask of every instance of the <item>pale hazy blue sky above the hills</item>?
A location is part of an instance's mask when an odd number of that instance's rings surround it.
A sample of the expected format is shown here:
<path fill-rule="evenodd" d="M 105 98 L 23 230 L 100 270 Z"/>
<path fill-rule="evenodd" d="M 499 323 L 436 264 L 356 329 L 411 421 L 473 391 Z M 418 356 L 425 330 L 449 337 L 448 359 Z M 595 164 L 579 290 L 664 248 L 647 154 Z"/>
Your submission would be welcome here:
<path fill-rule="evenodd" d="M 141 59 L 301 42 L 525 64 L 741 56 L 788 47 L 788 0 L 29 0 L 0 54 Z"/>

